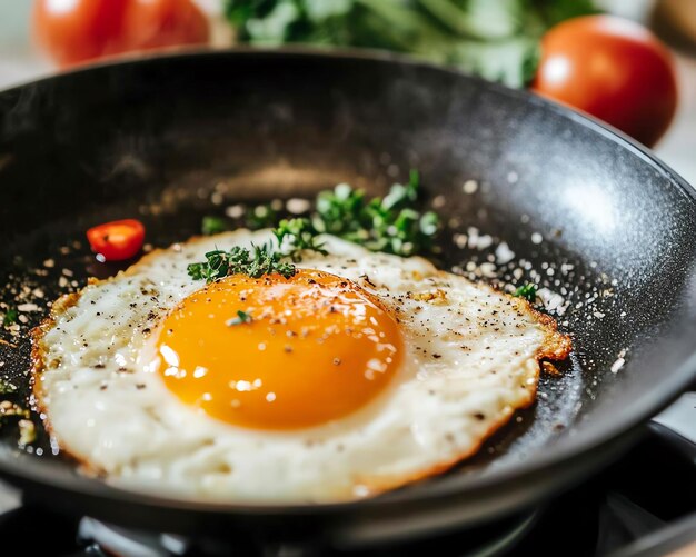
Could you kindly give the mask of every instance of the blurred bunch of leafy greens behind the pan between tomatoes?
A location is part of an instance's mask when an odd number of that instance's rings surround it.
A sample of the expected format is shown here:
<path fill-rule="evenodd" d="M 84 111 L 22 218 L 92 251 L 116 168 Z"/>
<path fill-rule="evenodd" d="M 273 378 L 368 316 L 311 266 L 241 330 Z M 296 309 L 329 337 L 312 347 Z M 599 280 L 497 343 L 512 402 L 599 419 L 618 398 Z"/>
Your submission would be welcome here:
<path fill-rule="evenodd" d="M 531 80 L 550 27 L 593 0 L 225 0 L 240 41 L 364 47 L 454 64 L 510 87 Z"/>

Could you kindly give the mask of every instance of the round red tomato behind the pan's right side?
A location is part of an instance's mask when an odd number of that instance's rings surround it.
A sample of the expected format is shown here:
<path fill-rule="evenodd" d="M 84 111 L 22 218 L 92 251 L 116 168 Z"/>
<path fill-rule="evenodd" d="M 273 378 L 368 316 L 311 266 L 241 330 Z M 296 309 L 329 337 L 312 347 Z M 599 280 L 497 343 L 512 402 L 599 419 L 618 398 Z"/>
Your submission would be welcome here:
<path fill-rule="evenodd" d="M 575 18 L 549 30 L 531 87 L 647 146 L 667 130 L 677 106 L 667 49 L 647 29 L 609 16 Z"/>

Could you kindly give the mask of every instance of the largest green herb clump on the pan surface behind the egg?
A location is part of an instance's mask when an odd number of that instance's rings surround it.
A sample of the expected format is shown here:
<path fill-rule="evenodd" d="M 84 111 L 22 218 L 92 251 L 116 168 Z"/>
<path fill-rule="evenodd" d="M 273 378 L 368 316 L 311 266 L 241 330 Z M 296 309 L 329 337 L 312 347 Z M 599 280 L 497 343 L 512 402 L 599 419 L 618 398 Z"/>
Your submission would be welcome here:
<path fill-rule="evenodd" d="M 395 183 L 384 198 L 367 200 L 365 192 L 347 183 L 317 197 L 312 225 L 317 233 L 330 233 L 360 243 L 371 251 L 412 256 L 432 249 L 439 217 L 414 208 L 420 178 L 411 170 L 407 185 Z"/>

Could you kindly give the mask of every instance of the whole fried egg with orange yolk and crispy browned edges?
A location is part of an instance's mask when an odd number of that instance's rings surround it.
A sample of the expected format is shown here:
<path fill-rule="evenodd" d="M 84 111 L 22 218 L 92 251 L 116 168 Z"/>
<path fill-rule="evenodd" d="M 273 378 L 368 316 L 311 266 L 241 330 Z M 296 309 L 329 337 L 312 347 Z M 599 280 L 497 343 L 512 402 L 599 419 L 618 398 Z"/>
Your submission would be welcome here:
<path fill-rule="evenodd" d="M 473 455 L 570 350 L 523 299 L 334 237 L 289 279 L 187 273 L 270 239 L 196 238 L 53 305 L 33 375 L 61 449 L 172 497 L 367 497 Z"/>

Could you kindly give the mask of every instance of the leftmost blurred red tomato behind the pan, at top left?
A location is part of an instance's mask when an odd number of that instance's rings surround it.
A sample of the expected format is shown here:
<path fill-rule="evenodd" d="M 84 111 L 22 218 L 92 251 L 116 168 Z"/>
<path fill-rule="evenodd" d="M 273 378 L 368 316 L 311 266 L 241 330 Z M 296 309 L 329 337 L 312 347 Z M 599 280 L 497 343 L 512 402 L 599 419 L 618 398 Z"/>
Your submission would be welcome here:
<path fill-rule="evenodd" d="M 34 34 L 60 66 L 121 52 L 127 1 L 39 0 L 33 9 Z"/>

